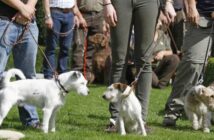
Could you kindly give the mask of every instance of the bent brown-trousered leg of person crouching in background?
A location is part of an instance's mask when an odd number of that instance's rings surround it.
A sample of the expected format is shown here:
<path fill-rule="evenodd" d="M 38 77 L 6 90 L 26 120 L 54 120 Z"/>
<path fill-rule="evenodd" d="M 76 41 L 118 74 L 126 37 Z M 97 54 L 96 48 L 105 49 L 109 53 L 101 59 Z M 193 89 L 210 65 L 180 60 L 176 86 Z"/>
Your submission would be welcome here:
<path fill-rule="evenodd" d="M 158 76 L 159 82 L 156 88 L 164 88 L 168 85 L 170 79 L 172 78 L 175 70 L 179 64 L 180 60 L 177 55 L 165 56 L 158 67 L 155 69 L 155 73 Z"/>

